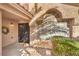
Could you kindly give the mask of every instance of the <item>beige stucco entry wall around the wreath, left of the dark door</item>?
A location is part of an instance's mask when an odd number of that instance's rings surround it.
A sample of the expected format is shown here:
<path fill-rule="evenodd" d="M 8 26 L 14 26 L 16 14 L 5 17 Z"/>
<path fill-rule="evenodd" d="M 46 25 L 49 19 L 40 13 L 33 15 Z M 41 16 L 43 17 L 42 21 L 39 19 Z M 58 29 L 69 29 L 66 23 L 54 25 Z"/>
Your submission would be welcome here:
<path fill-rule="evenodd" d="M 11 22 L 13 23 L 14 26 L 11 26 Z M 8 34 L 2 34 L 2 46 L 5 47 L 18 40 L 18 24 L 16 21 L 13 21 L 11 19 L 10 20 L 3 19 L 2 25 L 9 28 Z"/>

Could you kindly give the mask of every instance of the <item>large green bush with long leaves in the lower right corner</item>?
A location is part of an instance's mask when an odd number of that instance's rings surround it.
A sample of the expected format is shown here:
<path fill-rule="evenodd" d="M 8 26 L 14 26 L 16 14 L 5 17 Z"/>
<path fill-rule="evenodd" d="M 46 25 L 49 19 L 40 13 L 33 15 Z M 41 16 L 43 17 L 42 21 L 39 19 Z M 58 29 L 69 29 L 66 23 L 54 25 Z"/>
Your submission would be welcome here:
<path fill-rule="evenodd" d="M 79 41 L 62 36 L 52 38 L 52 55 L 54 56 L 79 56 Z"/>

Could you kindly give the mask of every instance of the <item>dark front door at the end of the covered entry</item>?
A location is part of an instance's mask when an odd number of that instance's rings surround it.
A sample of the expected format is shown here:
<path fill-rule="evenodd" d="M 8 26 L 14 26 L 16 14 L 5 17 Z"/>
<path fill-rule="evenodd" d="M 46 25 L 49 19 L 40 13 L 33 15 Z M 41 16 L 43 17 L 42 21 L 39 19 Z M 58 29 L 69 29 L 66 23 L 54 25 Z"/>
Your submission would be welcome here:
<path fill-rule="evenodd" d="M 19 23 L 18 24 L 18 41 L 23 43 L 30 42 L 30 27 L 28 23 Z"/>

